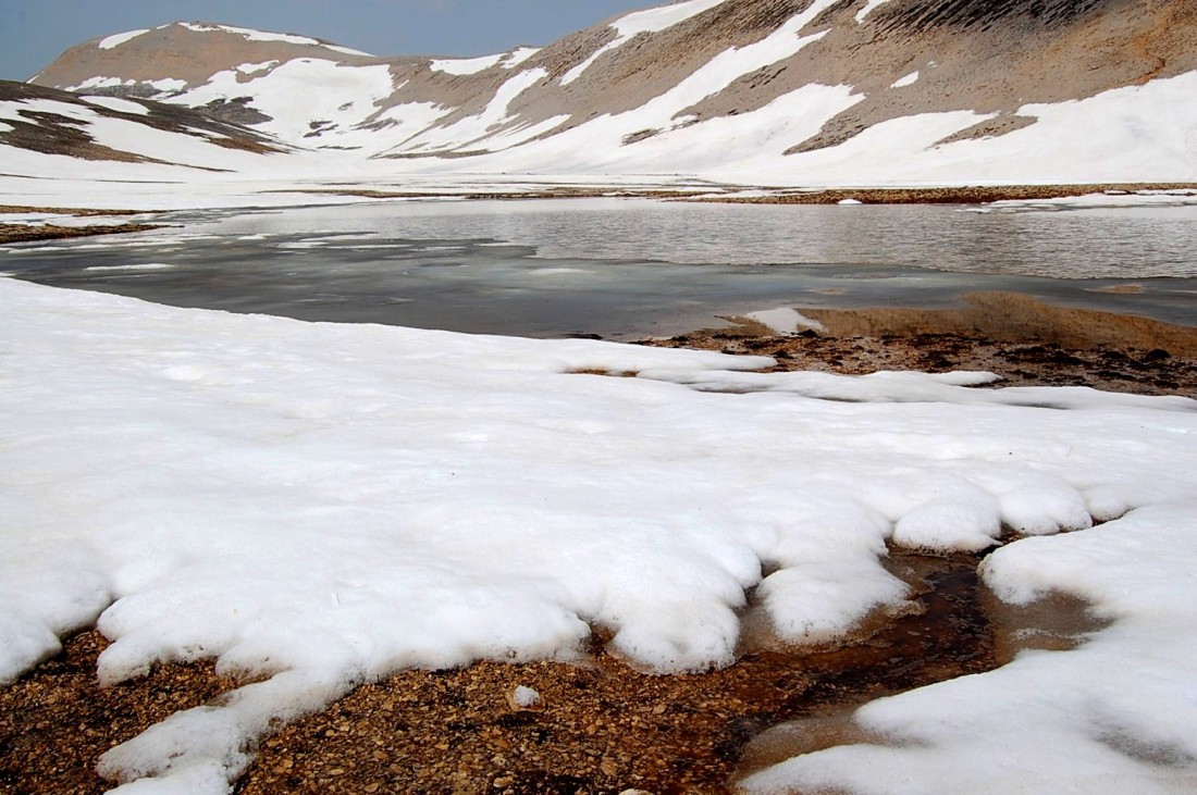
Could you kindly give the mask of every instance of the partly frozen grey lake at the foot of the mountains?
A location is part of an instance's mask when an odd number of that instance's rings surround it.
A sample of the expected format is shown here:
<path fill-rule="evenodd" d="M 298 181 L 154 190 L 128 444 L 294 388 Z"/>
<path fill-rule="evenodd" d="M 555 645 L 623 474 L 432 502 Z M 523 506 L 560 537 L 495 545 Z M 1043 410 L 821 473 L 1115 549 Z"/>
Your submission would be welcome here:
<path fill-rule="evenodd" d="M 632 340 L 780 306 L 965 292 L 1197 325 L 1197 206 L 1027 210 L 649 200 L 175 213 L 135 236 L 0 247 L 0 271 L 305 320 Z"/>

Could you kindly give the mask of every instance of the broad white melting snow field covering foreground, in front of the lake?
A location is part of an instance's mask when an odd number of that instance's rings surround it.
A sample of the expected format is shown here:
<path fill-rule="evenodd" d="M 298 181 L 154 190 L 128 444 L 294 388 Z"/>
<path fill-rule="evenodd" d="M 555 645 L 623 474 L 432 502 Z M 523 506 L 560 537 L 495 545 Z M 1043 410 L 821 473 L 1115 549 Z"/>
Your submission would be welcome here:
<path fill-rule="evenodd" d="M 256 683 L 109 751 L 116 791 L 227 793 L 274 720 L 406 667 L 576 659 L 591 625 L 661 673 L 728 665 L 757 586 L 784 637 L 833 641 L 907 599 L 887 543 L 1003 527 L 996 595 L 1105 629 L 871 703 L 881 742 L 749 791 L 1197 787 L 1197 402 L 8 279 L 0 305 L 0 678 L 97 625 L 104 683 L 205 658 Z"/>

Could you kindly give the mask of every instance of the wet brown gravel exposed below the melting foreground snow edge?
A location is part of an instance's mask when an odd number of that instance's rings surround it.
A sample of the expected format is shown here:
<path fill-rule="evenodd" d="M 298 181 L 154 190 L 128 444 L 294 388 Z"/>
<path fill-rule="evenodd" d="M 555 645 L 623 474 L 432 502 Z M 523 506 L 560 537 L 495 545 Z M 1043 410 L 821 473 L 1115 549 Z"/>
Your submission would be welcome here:
<path fill-rule="evenodd" d="M 785 720 L 992 668 L 977 561 L 897 555 L 924 610 L 846 648 L 797 654 L 754 641 L 724 671 L 656 677 L 602 652 L 593 662 L 479 662 L 367 684 L 266 739 L 237 791 L 656 795 L 725 793 L 748 741 Z M 748 618 L 752 625 L 754 622 Z M 211 665 L 163 665 L 108 690 L 95 631 L 0 689 L 0 791 L 90 795 L 96 759 L 170 713 L 233 686 Z M 536 690 L 536 709 L 510 703 Z"/>

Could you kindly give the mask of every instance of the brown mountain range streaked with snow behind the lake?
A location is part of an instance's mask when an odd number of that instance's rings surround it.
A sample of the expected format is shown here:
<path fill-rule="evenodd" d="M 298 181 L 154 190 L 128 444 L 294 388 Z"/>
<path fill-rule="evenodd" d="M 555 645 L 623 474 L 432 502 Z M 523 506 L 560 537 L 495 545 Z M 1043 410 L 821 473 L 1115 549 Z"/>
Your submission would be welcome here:
<path fill-rule="evenodd" d="M 176 23 L 80 44 L 32 82 L 396 171 L 1191 181 L 1195 42 L 1181 0 L 682 0 L 479 59 Z"/>

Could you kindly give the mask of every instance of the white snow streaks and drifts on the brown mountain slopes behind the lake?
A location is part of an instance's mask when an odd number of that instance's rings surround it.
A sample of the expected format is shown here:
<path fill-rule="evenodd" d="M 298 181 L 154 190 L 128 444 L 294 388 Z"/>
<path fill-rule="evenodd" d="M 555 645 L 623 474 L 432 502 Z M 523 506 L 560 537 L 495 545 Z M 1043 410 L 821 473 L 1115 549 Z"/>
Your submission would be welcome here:
<path fill-rule="evenodd" d="M 639 33 L 667 30 L 716 5 L 712 0 L 692 0 L 616 18 L 612 23 L 615 41 L 606 49 L 619 47 L 620 42 Z M 169 78 L 151 85 L 162 94 L 175 93 L 169 102 L 187 105 L 253 97 L 251 106 L 273 120 L 255 126 L 257 129 L 297 148 L 327 154 L 323 171 L 339 172 L 345 183 L 361 179 L 400 185 L 424 175 L 449 181 L 454 175 L 462 181 L 476 175 L 541 175 L 583 183 L 626 175 L 639 175 L 642 179 L 651 175 L 678 175 L 724 184 L 774 186 L 1197 179 L 1197 155 L 1192 147 L 1197 135 L 1197 106 L 1187 102 L 1197 91 L 1197 72 L 1142 86 L 1125 86 L 1076 102 L 1026 105 L 1016 112 L 1035 118 L 1033 124 L 999 136 L 947 145 L 942 141 L 995 116 L 956 110 L 898 117 L 839 146 L 786 155 L 786 151 L 818 134 L 826 122 L 865 94 L 851 85 L 810 84 L 764 108 L 734 116 L 699 121 L 693 115 L 695 103 L 724 91 L 754 71 L 784 62 L 818 41 L 822 32 L 809 36 L 801 32 L 832 5 L 830 0 L 818 0 L 761 41 L 719 53 L 642 106 L 589 121 L 564 115 L 516 117 L 511 108 L 517 97 L 529 90 L 529 96 L 540 96 L 537 92 L 546 88 L 546 85 L 537 85 L 546 82 L 548 73 L 545 69 L 516 69 L 537 53 L 533 48 L 481 59 L 432 61 L 433 68 L 461 75 L 463 81 L 486 69 L 512 72 L 497 88 L 484 88 L 493 91 L 479 98 L 478 106 L 485 103 L 485 109 L 468 117 L 462 117 L 452 105 L 429 100 L 423 92 L 405 93 L 403 86 L 394 85 L 394 75 L 384 65 L 350 67 L 339 63 L 340 59 L 333 53 L 328 53 L 332 60 L 298 59 L 274 65 L 274 68 L 265 63 L 242 65 L 219 72 L 206 85 L 190 90 L 183 81 Z M 862 4 L 859 13 L 868 14 L 877 5 Z M 248 30 L 202 29 L 238 35 L 247 35 Z M 588 62 L 594 57 L 597 54 Z M 569 82 L 584 69 L 585 63 L 576 66 L 564 81 Z M 920 77 L 922 71 L 911 72 L 895 80 L 892 87 L 911 86 Z M 120 85 L 122 81 L 117 78 L 97 77 L 75 88 L 86 91 Z M 123 85 L 133 85 L 133 81 Z M 311 103 L 293 102 L 300 93 L 310 97 Z M 132 106 L 127 110 L 132 111 Z M 560 129 L 571 122 L 581 123 Z M 651 135 L 638 135 L 642 133 Z M 630 136 L 639 140 L 625 145 Z M 347 149 L 357 149 L 356 160 L 347 157 Z M 486 154 L 454 160 L 421 158 L 370 163 L 366 159 L 377 154 L 449 152 Z M 279 178 L 286 182 L 310 172 L 312 164 L 299 167 L 300 163 L 300 159 L 288 160 L 286 169 L 281 161 L 273 165 Z M 236 158 L 225 165 L 212 163 L 212 167 L 227 167 L 238 173 L 242 170 L 260 172 Z M 141 169 L 133 171 L 142 172 Z"/>

